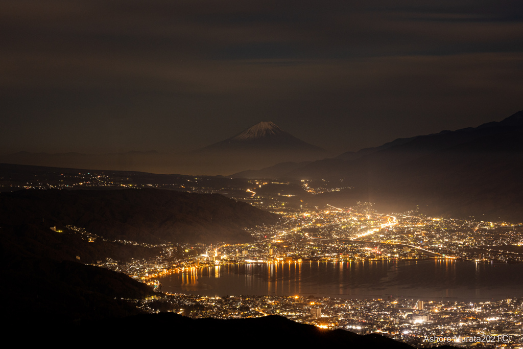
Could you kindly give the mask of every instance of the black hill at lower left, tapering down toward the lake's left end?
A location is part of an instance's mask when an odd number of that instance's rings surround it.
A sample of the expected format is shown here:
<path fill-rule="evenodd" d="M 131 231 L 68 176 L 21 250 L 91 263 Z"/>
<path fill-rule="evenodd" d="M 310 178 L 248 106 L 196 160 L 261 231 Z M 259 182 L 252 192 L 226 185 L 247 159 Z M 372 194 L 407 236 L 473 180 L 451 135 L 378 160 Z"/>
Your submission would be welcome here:
<path fill-rule="evenodd" d="M 152 289 L 122 273 L 48 258 L 2 258 L 2 317 L 56 326 L 140 313 L 126 299 Z M 5 324 L 4 324 L 5 325 Z"/>

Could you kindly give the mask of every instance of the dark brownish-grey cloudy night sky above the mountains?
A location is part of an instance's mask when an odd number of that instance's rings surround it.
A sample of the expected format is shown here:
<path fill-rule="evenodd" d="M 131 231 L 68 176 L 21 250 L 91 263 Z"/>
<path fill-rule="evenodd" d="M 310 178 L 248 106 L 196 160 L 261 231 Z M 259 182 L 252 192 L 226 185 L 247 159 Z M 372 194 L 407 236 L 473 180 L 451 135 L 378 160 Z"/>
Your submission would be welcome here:
<path fill-rule="evenodd" d="M 523 109 L 521 0 L 0 0 L 0 153 L 341 153 Z"/>

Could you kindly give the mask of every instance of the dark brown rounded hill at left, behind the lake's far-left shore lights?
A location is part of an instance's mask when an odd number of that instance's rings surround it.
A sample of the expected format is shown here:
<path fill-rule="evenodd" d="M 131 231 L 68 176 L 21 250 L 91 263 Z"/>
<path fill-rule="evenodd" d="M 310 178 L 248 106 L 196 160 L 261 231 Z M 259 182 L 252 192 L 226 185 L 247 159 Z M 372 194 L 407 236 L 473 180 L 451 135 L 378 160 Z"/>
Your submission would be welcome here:
<path fill-rule="evenodd" d="M 0 194 L 0 222 L 9 226 L 76 226 L 111 240 L 144 243 L 247 242 L 243 228 L 277 215 L 219 194 L 157 189 L 20 190 Z"/>

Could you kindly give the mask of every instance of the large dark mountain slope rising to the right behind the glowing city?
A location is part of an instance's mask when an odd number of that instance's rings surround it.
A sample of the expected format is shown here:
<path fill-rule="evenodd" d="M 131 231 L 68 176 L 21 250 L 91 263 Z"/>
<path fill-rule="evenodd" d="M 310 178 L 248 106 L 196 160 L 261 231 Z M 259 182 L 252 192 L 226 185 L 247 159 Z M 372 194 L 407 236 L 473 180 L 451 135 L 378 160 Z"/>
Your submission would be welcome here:
<path fill-rule="evenodd" d="M 281 170 L 281 171 L 279 171 Z M 339 181 L 317 205 L 376 202 L 387 211 L 419 206 L 435 216 L 523 221 L 523 111 L 478 127 L 397 139 L 299 166 L 279 164 L 233 175 Z"/>

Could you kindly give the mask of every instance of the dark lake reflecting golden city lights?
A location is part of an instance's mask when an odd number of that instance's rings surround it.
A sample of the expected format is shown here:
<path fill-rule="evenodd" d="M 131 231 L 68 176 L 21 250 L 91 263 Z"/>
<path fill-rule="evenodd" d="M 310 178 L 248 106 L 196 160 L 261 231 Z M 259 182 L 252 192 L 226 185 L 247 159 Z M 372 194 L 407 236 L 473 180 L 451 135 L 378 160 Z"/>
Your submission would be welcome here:
<path fill-rule="evenodd" d="M 160 279 L 163 290 L 204 296 L 486 300 L 523 296 L 523 264 L 453 260 L 228 264 Z"/>

